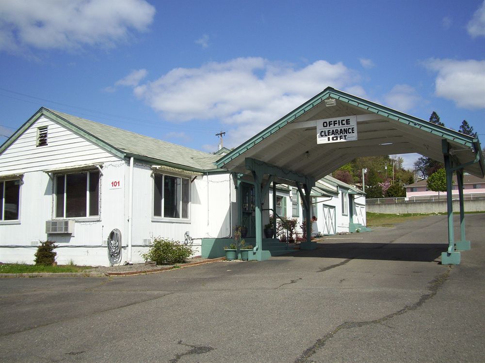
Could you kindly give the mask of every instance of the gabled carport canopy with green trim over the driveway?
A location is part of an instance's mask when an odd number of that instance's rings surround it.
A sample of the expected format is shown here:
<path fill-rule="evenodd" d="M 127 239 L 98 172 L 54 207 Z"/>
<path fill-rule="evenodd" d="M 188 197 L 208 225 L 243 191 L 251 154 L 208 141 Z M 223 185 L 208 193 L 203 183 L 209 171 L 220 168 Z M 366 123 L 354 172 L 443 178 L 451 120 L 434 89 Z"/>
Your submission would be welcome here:
<path fill-rule="evenodd" d="M 329 121 L 349 119 L 355 122 L 355 128 L 348 129 L 349 132 L 353 132 L 354 138 L 356 136 L 355 140 L 342 140 L 339 134 L 325 134 L 325 131 L 322 133 L 322 130 L 329 126 Z M 317 143 L 318 137 L 327 135 L 337 135 L 339 140 Z M 295 185 L 302 197 L 300 186 L 304 185 L 308 201 L 309 191 L 315 185 L 315 181 L 357 157 L 411 152 L 420 153 L 445 164 L 449 179 L 448 190 L 451 190 L 451 176 L 455 171 L 458 176 L 463 176 L 463 172 L 481 178 L 485 175 L 484 157 L 477 138 L 331 87 L 327 87 L 224 155 L 216 164 L 218 168 L 243 174 L 243 178 L 257 178 L 260 185 L 264 185 L 265 182 L 269 184 L 270 181 Z M 268 185 L 262 190 L 267 191 Z M 459 190 L 462 207 L 462 188 L 459 187 Z M 448 196 L 451 246 L 451 193 L 448 193 Z M 308 217 L 308 205 L 306 207 Z M 463 240 L 463 208 L 460 210 Z M 258 222 L 256 225 L 258 227 Z M 453 251 L 450 247 L 449 254 L 454 252 L 454 247 L 456 246 L 453 243 Z"/>

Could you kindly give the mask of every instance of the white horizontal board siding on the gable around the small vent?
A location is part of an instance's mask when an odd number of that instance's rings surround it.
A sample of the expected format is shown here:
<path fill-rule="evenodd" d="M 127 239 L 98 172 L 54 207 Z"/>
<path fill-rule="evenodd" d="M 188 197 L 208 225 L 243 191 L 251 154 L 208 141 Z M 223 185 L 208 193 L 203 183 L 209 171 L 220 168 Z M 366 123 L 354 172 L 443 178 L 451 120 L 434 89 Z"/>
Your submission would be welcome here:
<path fill-rule="evenodd" d="M 48 126 L 48 145 L 37 147 L 37 128 L 42 126 Z M 91 141 L 41 116 L 0 155 L 0 176 L 116 160 Z"/>

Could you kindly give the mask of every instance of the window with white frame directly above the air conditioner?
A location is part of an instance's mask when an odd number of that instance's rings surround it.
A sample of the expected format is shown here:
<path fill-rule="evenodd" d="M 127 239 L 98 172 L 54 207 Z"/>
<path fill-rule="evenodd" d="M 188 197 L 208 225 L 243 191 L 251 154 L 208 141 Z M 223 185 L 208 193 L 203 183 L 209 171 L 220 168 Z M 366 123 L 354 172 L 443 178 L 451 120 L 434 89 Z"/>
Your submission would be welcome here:
<path fill-rule="evenodd" d="M 99 171 L 58 174 L 55 178 L 55 218 L 99 215 Z"/>

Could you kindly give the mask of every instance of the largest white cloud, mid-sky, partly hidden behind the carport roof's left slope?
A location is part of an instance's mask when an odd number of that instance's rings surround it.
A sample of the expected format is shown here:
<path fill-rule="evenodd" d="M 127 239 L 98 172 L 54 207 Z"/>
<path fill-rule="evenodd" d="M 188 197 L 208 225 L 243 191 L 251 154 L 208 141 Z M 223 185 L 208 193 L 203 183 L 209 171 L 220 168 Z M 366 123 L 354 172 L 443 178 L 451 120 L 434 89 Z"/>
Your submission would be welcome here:
<path fill-rule="evenodd" d="M 232 147 L 327 86 L 351 88 L 358 80 L 342 63 L 316 61 L 295 69 L 263 58 L 238 58 L 173 69 L 135 87 L 134 93 L 167 120 L 218 119 L 233 125 L 227 129 Z"/>

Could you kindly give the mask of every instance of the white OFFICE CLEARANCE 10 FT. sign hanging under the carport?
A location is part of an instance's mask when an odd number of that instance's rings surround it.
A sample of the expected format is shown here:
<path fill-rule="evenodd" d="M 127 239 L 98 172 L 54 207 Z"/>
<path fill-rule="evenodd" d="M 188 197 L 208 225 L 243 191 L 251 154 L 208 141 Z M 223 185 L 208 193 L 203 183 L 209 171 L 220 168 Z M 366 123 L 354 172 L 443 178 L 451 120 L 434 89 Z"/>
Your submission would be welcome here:
<path fill-rule="evenodd" d="M 317 144 L 356 140 L 356 116 L 317 120 Z"/>

